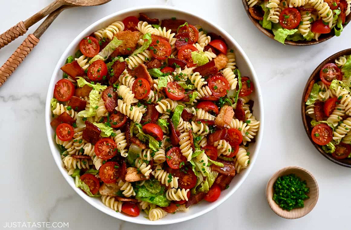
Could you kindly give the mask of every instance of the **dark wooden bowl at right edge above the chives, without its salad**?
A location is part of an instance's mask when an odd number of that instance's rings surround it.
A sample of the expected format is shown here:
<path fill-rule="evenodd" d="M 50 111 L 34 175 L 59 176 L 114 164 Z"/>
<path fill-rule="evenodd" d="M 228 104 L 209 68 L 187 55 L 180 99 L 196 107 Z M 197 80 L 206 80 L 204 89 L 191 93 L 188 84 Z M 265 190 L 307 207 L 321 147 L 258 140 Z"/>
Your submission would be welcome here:
<path fill-rule="evenodd" d="M 327 159 L 331 160 L 332 162 L 345 166 L 345 167 L 351 167 L 351 158 L 346 158 L 346 159 L 335 159 L 333 158 L 329 153 L 324 152 L 324 150 L 322 149 L 322 147 L 320 145 L 317 145 L 316 143 L 313 142 L 312 137 L 311 137 L 311 132 L 312 132 L 312 127 L 311 127 L 311 118 L 309 116 L 307 116 L 305 114 L 305 110 L 306 110 L 306 105 L 305 105 L 305 95 L 308 89 L 308 86 L 310 84 L 310 82 L 312 80 L 314 80 L 315 82 L 320 81 L 319 78 L 319 71 L 320 69 L 327 63 L 334 63 L 335 59 L 337 59 L 340 56 L 343 55 L 350 55 L 351 54 L 351 49 L 347 49 L 347 50 L 343 50 L 340 51 L 336 54 L 331 55 L 329 58 L 325 59 L 311 74 L 310 78 L 307 80 L 304 92 L 302 94 L 302 100 L 301 100 L 301 116 L 302 116 L 302 122 L 304 124 L 305 127 L 305 131 L 307 136 L 310 138 L 312 144 L 314 145 L 314 147 L 316 147 L 316 149 L 322 153 L 323 156 L 325 156 Z"/>

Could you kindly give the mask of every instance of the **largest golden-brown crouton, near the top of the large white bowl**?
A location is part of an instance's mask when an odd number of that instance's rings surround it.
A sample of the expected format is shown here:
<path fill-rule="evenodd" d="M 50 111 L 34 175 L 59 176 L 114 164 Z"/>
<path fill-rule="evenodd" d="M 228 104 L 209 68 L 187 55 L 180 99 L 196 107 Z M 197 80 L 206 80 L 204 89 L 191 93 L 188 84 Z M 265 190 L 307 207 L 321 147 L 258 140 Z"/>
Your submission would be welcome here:
<path fill-rule="evenodd" d="M 129 55 L 134 52 L 137 48 L 140 32 L 139 31 L 120 31 L 115 34 L 115 37 L 122 40 L 123 43 L 116 48 L 111 54 L 111 57 L 117 57 L 118 55 Z"/>

